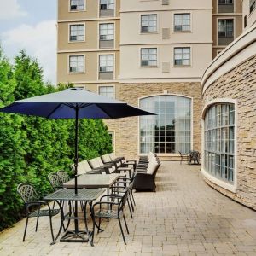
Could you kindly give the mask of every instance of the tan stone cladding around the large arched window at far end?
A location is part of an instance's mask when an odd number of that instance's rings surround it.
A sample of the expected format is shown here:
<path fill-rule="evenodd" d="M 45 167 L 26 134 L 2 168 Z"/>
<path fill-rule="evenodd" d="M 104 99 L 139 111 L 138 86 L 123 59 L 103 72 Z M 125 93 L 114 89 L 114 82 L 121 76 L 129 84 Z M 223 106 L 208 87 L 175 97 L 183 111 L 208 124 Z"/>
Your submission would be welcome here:
<path fill-rule="evenodd" d="M 119 84 L 119 100 L 138 107 L 138 99 L 144 96 L 163 94 L 189 96 L 193 98 L 193 145 L 201 151 L 201 88 L 200 83 L 141 83 Z M 115 152 L 128 159 L 137 159 L 139 154 L 138 117 L 106 120 L 109 131 L 115 131 Z M 168 159 L 174 160 L 169 155 Z M 179 157 L 176 160 L 179 160 Z"/>

